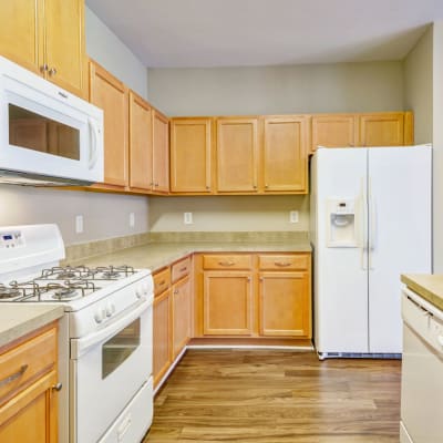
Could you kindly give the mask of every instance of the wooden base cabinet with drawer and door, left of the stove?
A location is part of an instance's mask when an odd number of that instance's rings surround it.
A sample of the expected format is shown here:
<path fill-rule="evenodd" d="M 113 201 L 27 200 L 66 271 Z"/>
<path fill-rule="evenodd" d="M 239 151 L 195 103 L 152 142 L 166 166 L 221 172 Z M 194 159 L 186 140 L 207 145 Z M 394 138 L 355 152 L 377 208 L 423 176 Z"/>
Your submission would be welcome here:
<path fill-rule="evenodd" d="M 58 441 L 55 323 L 0 349 L 0 441 Z"/>

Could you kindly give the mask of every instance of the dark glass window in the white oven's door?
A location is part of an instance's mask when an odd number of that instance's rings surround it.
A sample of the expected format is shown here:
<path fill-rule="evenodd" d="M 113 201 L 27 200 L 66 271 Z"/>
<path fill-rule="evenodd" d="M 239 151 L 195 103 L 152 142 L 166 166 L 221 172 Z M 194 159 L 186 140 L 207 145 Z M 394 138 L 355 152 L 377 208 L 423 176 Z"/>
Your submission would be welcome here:
<path fill-rule="evenodd" d="M 115 371 L 140 346 L 140 318 L 102 347 L 102 379 Z"/>

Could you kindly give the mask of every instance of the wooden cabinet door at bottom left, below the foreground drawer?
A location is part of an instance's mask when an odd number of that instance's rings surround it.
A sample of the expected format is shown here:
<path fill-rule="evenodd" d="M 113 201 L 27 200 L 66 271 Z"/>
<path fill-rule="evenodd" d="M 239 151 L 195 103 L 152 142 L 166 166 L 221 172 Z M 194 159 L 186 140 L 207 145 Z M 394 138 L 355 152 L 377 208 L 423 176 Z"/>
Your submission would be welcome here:
<path fill-rule="evenodd" d="M 56 382 L 49 372 L 0 408 L 0 442 L 56 443 Z"/>

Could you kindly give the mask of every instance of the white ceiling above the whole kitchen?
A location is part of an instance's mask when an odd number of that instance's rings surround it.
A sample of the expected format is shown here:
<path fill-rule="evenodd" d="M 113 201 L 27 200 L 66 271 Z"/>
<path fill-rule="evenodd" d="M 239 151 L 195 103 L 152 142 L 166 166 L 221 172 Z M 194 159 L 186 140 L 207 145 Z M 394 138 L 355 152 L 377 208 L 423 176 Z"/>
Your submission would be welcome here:
<path fill-rule="evenodd" d="M 400 60 L 443 0 L 86 0 L 150 68 Z M 110 48 L 112 51 L 112 48 Z"/>

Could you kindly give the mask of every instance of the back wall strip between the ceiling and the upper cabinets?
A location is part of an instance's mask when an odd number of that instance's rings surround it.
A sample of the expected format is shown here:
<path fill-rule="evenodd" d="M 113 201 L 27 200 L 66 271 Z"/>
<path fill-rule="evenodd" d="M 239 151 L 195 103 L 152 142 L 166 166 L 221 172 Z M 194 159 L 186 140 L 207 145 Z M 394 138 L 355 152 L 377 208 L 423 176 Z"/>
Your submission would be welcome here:
<path fill-rule="evenodd" d="M 401 62 L 150 69 L 150 101 L 168 115 L 403 110 Z"/>

